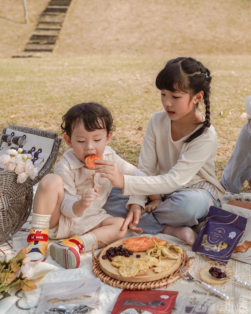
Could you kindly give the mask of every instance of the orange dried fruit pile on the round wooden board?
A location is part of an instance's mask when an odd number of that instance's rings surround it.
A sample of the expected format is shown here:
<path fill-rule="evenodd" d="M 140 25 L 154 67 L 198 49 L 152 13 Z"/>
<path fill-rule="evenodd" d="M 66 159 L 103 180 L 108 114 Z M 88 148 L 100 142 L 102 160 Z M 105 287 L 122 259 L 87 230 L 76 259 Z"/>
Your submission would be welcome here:
<path fill-rule="evenodd" d="M 154 245 L 153 239 L 160 246 L 163 246 L 166 243 L 166 241 L 162 239 L 158 239 L 156 237 L 147 238 L 147 236 L 143 236 L 143 237 L 125 239 L 124 248 L 132 252 L 147 251 Z"/>

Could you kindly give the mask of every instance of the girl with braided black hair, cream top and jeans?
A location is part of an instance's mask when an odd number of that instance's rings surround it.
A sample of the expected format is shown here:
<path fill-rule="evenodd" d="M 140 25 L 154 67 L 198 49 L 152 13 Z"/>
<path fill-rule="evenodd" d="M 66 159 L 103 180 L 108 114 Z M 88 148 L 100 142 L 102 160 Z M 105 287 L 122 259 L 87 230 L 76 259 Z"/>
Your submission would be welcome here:
<path fill-rule="evenodd" d="M 108 161 L 93 167 L 130 195 L 122 230 L 129 225 L 136 232 L 160 231 L 193 245 L 197 234 L 190 227 L 203 220 L 210 206 L 219 207 L 225 192 L 215 176 L 218 143 L 210 123 L 211 79 L 209 69 L 191 57 L 168 61 L 156 78 L 164 110 L 150 118 L 139 156 L 138 169 L 148 176 L 111 173 Z M 197 111 L 202 101 L 205 117 Z M 105 210 L 124 217 L 125 205 L 118 206 L 118 195 L 114 203 L 111 193 Z M 158 193 L 164 195 L 147 203 L 147 195 Z"/>

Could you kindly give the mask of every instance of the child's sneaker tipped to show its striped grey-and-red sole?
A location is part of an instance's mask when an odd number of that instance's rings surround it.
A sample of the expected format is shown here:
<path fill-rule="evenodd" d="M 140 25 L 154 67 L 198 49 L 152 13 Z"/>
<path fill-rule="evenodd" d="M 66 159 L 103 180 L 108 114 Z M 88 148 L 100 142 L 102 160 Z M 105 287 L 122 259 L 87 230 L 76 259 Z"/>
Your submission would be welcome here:
<path fill-rule="evenodd" d="M 83 249 L 83 242 L 75 236 L 51 244 L 50 253 L 51 257 L 64 268 L 78 268 Z"/>

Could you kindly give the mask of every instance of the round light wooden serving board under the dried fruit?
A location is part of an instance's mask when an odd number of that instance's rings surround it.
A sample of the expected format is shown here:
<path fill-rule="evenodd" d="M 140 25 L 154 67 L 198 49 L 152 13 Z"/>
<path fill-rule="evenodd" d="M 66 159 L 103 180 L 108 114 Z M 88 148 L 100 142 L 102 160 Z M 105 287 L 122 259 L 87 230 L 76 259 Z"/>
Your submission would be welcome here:
<path fill-rule="evenodd" d="M 135 277 L 130 277 L 130 278 L 125 278 L 122 277 L 119 273 L 119 268 L 114 267 L 112 265 L 111 262 L 109 262 L 108 259 L 103 259 L 102 256 L 106 253 L 106 251 L 109 249 L 109 247 L 118 247 L 120 245 L 124 246 L 124 240 L 119 240 L 116 241 L 112 244 L 109 244 L 108 246 L 106 246 L 102 252 L 99 255 L 99 265 L 100 268 L 103 270 L 104 273 L 106 273 L 108 276 L 110 276 L 111 278 L 117 279 L 117 280 L 121 280 L 121 281 L 126 281 L 126 282 L 148 282 L 148 281 L 154 281 L 154 280 L 158 280 L 158 279 L 162 279 L 165 278 L 167 276 L 169 276 L 171 273 L 174 273 L 175 270 L 177 270 L 180 266 L 181 263 L 181 253 L 176 252 L 174 249 L 170 249 L 170 253 L 171 254 L 178 254 L 178 259 L 169 259 L 169 258 L 164 258 L 163 261 L 167 261 L 168 263 L 171 264 L 171 268 L 169 268 L 168 270 L 162 272 L 162 273 L 155 273 L 153 268 L 149 268 L 147 273 L 141 275 L 141 276 L 135 276 Z M 175 252 L 175 253 L 174 253 Z M 130 259 L 130 261 L 132 260 L 138 260 L 139 258 L 136 257 L 137 254 L 140 254 L 140 257 L 143 257 L 145 255 L 147 255 L 146 251 L 143 252 L 134 252 L 133 255 L 131 255 L 130 257 L 128 257 Z"/>

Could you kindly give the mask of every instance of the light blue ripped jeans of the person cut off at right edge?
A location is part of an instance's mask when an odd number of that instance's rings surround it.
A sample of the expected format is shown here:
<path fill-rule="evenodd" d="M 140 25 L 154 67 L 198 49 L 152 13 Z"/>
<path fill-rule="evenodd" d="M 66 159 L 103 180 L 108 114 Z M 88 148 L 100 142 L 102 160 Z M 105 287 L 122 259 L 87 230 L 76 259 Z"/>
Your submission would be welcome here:
<path fill-rule="evenodd" d="M 250 118 L 248 122 L 249 120 Z M 241 129 L 221 177 L 227 191 L 234 194 L 241 193 L 243 182 L 251 176 L 251 134 L 248 130 L 248 122 Z"/>

